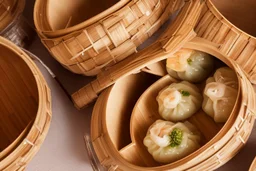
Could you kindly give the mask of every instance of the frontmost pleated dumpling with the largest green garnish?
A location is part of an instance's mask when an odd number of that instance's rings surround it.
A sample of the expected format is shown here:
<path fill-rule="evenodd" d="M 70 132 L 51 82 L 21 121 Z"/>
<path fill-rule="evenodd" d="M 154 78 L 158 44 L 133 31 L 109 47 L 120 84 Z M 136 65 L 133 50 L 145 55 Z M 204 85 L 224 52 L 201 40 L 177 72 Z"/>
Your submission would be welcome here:
<path fill-rule="evenodd" d="M 175 124 L 157 120 L 149 127 L 143 143 L 154 160 L 171 163 L 197 150 L 200 139 L 200 133 L 188 121 Z"/>

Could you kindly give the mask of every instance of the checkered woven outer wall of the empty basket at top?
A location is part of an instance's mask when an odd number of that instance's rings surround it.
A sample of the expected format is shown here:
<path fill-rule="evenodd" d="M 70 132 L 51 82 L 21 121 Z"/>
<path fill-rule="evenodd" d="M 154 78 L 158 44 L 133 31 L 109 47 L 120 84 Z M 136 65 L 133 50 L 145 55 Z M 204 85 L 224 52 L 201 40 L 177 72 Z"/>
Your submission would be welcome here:
<path fill-rule="evenodd" d="M 137 52 L 183 4 L 176 0 L 138 0 L 101 21 L 70 35 L 44 39 L 52 55 L 74 73 L 96 75 L 104 67 Z"/>

